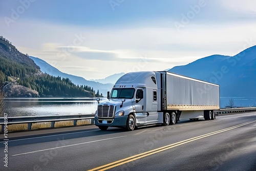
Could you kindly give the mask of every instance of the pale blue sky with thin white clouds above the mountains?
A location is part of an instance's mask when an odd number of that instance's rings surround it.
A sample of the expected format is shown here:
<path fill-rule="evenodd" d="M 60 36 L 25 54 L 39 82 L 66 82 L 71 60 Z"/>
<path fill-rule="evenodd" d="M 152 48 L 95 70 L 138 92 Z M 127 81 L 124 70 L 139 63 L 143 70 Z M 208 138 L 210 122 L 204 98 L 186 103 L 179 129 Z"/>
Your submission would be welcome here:
<path fill-rule="evenodd" d="M 163 71 L 256 45 L 255 0 L 1 0 L 0 35 L 85 79 Z"/>

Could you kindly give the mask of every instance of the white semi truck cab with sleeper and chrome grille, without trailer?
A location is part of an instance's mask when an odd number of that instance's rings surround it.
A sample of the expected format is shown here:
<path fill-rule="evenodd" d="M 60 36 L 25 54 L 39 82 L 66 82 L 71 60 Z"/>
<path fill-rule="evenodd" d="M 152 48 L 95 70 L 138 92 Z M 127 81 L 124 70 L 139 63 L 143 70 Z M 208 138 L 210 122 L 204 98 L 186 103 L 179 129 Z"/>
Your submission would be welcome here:
<path fill-rule="evenodd" d="M 98 104 L 95 125 L 101 130 L 115 126 L 132 131 L 135 126 L 162 122 L 158 89 L 155 72 L 125 74 L 113 86 L 108 99 Z"/>

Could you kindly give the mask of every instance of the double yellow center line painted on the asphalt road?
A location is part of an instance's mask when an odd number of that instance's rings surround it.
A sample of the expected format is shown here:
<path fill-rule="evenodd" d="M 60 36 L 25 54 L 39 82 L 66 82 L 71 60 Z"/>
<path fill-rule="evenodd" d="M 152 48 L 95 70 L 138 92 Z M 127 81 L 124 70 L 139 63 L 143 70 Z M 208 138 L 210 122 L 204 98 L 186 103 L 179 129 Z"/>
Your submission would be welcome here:
<path fill-rule="evenodd" d="M 150 156 L 150 155 L 153 155 L 153 154 L 156 154 L 156 153 L 166 151 L 167 149 L 170 149 L 170 148 L 182 145 L 182 144 L 186 144 L 188 142 L 196 141 L 196 140 L 199 140 L 199 139 L 211 136 L 211 135 L 215 135 L 215 134 L 219 134 L 219 133 L 226 132 L 226 131 L 229 131 L 229 130 L 233 130 L 233 129 L 236 129 L 240 126 L 244 126 L 244 125 L 247 125 L 247 124 L 250 124 L 250 123 L 253 123 L 253 122 L 256 122 L 256 120 L 245 122 L 245 123 L 242 123 L 242 124 L 239 124 L 239 125 L 236 125 L 236 126 L 228 127 L 227 129 L 223 129 L 223 130 L 219 130 L 219 131 L 216 131 L 216 132 L 204 134 L 204 135 L 201 135 L 201 136 L 198 136 L 198 137 L 190 138 L 190 139 L 183 140 L 183 141 L 180 141 L 180 142 L 176 142 L 176 143 L 173 143 L 173 144 L 169 144 L 169 145 L 166 145 L 166 146 L 163 146 L 163 147 L 160 147 L 160 148 L 153 149 L 151 151 L 147 151 L 147 152 L 144 152 L 144 153 L 141 153 L 141 154 L 138 154 L 138 155 L 134 155 L 134 156 L 131 156 L 131 157 L 128 157 L 128 158 L 125 158 L 125 159 L 121 159 L 121 160 L 118 160 L 118 161 L 115 161 L 115 162 L 112 162 L 112 163 L 109 163 L 109 164 L 105 164 L 105 165 L 90 169 L 89 171 L 110 169 L 110 168 L 113 168 L 113 167 L 116 167 L 116 166 L 119 166 L 119 165 L 122 165 L 122 164 L 125 164 L 125 163 L 132 162 L 134 160 L 138 160 L 138 159 L 146 157 L 146 156 Z"/>

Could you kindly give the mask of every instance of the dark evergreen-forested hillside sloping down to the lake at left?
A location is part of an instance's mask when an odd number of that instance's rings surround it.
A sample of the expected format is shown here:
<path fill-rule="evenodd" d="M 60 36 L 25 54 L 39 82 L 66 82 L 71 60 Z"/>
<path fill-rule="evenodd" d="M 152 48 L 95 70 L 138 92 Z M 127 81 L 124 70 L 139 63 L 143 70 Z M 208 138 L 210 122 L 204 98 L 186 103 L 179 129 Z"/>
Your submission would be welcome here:
<path fill-rule="evenodd" d="M 44 74 L 11 42 L 0 36 L 0 88 L 8 97 L 93 97 L 99 91 L 88 86 L 76 86 L 68 78 Z"/>

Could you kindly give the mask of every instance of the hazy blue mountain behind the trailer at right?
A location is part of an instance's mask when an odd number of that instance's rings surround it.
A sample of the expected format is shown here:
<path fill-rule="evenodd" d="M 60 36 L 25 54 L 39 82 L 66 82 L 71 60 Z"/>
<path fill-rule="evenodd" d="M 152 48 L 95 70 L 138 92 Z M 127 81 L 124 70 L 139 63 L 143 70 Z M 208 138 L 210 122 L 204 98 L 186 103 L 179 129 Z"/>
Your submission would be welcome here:
<path fill-rule="evenodd" d="M 234 56 L 207 56 L 168 71 L 219 84 L 221 97 L 243 100 L 237 105 L 255 105 L 256 46 Z"/>

